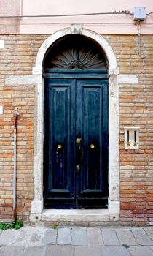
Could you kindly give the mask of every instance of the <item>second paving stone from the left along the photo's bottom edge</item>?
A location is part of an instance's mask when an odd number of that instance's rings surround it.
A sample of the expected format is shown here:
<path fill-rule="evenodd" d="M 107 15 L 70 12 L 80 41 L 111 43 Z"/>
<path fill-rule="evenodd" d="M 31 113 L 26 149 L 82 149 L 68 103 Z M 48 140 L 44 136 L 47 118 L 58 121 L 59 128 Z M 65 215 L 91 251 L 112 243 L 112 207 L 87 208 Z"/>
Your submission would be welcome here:
<path fill-rule="evenodd" d="M 46 250 L 47 249 L 44 246 L 26 247 L 25 251 L 23 252 L 23 256 L 45 256 Z"/>

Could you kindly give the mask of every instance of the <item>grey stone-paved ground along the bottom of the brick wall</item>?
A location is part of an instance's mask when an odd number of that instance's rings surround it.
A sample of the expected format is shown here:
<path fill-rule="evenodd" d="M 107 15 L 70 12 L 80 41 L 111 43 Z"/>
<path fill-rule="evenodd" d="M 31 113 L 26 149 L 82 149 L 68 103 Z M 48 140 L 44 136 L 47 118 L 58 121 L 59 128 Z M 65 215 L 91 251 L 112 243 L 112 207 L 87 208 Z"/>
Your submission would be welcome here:
<path fill-rule="evenodd" d="M 153 256 L 153 227 L 22 227 L 0 231 L 1 256 Z"/>

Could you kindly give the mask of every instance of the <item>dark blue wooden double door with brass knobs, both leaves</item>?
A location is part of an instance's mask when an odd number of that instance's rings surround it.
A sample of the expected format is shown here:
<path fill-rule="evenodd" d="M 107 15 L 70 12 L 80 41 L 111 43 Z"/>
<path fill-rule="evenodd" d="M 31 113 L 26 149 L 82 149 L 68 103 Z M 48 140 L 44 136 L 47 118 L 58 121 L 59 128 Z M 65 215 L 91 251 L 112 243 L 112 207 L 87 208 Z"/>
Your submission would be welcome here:
<path fill-rule="evenodd" d="M 46 79 L 44 208 L 106 208 L 106 79 Z"/>

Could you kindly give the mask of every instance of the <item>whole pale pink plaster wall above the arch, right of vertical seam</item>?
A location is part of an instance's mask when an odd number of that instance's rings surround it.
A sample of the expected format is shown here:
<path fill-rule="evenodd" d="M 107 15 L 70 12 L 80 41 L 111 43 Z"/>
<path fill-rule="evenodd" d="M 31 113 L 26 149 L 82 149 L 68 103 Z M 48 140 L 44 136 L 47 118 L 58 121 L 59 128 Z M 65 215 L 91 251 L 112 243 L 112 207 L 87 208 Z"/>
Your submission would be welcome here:
<path fill-rule="evenodd" d="M 146 7 L 153 11 L 152 0 L 22 0 L 23 15 L 59 15 L 72 13 L 114 12 L 130 10 L 134 7 Z M 92 15 L 55 18 L 23 18 L 20 22 L 21 34 L 52 34 L 70 26 L 71 23 L 83 23 L 87 29 L 101 34 L 137 34 L 138 28 L 132 15 Z M 141 34 L 153 33 L 153 15 L 141 22 Z"/>

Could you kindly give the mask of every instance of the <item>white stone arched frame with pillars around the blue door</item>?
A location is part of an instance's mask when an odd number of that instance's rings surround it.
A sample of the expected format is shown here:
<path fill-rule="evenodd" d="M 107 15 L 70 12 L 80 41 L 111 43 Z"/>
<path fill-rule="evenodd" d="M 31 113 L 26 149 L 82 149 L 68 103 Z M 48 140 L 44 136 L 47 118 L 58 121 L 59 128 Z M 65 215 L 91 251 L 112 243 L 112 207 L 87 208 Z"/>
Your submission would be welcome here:
<path fill-rule="evenodd" d="M 72 25 L 69 28 L 55 32 L 48 37 L 39 48 L 36 56 L 36 66 L 33 75 L 36 83 L 35 128 L 34 128 L 34 200 L 31 203 L 31 215 L 40 215 L 43 211 L 43 141 L 44 141 L 44 80 L 42 65 L 44 55 L 53 42 L 66 34 L 82 34 L 95 40 L 106 53 L 109 61 L 109 214 L 119 214 L 119 85 L 117 76 L 119 68 L 114 52 L 109 42 L 93 31 L 83 29 L 82 25 Z M 59 210 L 60 211 L 60 210 Z"/>

